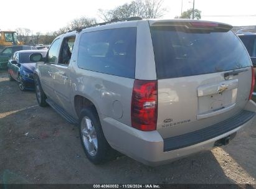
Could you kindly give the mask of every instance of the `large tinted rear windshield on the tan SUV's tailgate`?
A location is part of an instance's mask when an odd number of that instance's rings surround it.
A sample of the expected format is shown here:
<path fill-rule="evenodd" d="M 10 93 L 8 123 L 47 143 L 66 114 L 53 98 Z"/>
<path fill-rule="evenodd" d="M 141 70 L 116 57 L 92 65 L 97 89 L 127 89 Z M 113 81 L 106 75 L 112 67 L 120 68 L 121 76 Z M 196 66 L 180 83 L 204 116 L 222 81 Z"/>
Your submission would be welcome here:
<path fill-rule="evenodd" d="M 151 27 L 159 79 L 249 67 L 244 45 L 232 31 L 206 32 L 184 27 Z"/>

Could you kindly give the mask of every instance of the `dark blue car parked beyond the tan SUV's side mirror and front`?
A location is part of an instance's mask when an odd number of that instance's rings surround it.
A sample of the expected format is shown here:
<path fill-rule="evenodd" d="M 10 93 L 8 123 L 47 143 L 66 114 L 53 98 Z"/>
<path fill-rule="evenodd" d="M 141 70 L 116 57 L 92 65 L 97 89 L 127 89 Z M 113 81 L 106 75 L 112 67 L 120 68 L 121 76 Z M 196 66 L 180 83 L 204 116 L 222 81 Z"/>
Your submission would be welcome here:
<path fill-rule="evenodd" d="M 29 57 L 32 53 L 41 53 L 44 57 L 47 50 L 20 50 L 14 52 L 7 63 L 8 75 L 10 81 L 18 81 L 19 89 L 34 90 L 34 70 L 36 63 L 31 62 Z"/>

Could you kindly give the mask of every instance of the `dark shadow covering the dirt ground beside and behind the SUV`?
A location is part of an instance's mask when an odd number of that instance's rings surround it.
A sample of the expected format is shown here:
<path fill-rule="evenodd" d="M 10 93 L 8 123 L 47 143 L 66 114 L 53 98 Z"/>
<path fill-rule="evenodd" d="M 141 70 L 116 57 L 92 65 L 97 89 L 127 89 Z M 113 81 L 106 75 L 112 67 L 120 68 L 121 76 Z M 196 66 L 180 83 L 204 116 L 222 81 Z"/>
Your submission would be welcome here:
<path fill-rule="evenodd" d="M 78 128 L 49 107 L 10 114 L 0 126 L 2 182 L 7 172 L 14 183 L 233 183 L 210 151 L 159 167 L 126 156 L 93 165 L 83 154 Z"/>

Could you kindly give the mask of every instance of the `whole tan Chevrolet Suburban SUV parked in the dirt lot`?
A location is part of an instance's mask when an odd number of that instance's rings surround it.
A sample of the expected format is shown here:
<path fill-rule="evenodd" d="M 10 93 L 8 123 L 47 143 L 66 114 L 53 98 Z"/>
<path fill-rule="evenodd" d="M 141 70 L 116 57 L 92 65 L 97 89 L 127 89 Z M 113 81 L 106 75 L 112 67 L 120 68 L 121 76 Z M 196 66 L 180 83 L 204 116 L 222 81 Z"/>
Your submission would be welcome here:
<path fill-rule="evenodd" d="M 252 62 L 231 29 L 133 17 L 68 32 L 31 55 L 37 101 L 80 127 L 94 164 L 116 150 L 158 165 L 228 144 L 256 112 Z"/>

